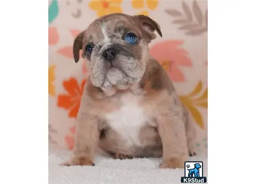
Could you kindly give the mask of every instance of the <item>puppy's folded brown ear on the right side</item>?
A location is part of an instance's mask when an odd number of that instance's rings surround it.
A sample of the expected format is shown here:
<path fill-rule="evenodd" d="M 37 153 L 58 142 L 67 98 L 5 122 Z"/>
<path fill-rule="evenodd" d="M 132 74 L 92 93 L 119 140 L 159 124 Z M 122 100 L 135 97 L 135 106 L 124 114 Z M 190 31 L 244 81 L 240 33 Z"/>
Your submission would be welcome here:
<path fill-rule="evenodd" d="M 145 15 L 137 15 L 136 17 L 141 22 L 143 29 L 148 33 L 150 40 L 154 40 L 155 37 L 157 37 L 154 34 L 154 31 L 157 31 L 157 33 L 162 37 L 160 26 L 154 20 Z"/>

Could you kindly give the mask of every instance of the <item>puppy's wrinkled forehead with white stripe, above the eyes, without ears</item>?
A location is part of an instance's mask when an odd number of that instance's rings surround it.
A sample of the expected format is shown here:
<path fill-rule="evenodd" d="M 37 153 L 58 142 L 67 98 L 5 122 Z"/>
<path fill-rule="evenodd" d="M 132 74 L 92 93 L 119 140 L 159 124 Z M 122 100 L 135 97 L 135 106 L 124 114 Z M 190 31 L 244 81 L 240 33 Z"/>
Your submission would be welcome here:
<path fill-rule="evenodd" d="M 127 31 L 132 31 L 138 37 L 142 36 L 136 20 L 130 15 L 115 14 L 106 15 L 93 21 L 86 30 L 87 42 L 99 43 L 105 40 L 110 42 L 113 37 L 120 37 Z"/>

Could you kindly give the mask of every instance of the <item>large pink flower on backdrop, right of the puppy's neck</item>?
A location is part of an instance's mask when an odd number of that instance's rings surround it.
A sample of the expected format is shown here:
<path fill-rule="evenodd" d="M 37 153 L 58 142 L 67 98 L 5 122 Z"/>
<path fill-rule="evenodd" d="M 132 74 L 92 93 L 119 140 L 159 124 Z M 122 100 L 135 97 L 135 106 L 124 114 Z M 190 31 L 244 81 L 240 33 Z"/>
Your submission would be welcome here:
<path fill-rule="evenodd" d="M 179 66 L 192 66 L 188 52 L 180 48 L 182 40 L 167 40 L 151 47 L 151 55 L 166 69 L 171 80 L 174 82 L 185 81 L 185 76 Z"/>

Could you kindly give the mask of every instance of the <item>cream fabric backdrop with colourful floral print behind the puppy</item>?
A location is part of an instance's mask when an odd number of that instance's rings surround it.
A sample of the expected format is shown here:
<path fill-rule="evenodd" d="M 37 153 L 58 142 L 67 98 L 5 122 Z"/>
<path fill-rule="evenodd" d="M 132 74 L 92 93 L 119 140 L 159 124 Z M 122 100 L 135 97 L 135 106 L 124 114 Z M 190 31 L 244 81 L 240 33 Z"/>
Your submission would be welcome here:
<path fill-rule="evenodd" d="M 163 65 L 198 132 L 198 153 L 207 153 L 207 0 L 48 0 L 49 145 L 72 149 L 75 118 L 88 77 L 73 60 L 73 41 L 97 17 L 114 12 L 148 15 L 163 37 L 149 45 Z"/>

